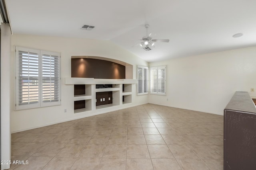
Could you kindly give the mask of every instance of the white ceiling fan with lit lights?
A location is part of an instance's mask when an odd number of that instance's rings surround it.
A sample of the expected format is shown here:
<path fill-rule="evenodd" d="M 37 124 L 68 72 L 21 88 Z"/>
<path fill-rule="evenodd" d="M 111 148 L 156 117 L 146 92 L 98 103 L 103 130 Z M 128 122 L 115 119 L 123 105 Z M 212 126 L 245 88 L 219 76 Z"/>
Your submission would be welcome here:
<path fill-rule="evenodd" d="M 142 42 L 140 42 L 136 45 L 140 45 L 140 47 L 142 47 L 142 49 L 144 49 L 145 51 L 150 51 L 150 50 L 152 50 L 151 49 L 152 47 L 155 47 L 154 42 L 163 42 L 163 43 L 169 42 L 169 39 L 152 39 L 153 33 L 150 33 L 148 35 L 148 27 L 149 27 L 149 24 L 145 24 L 146 36 L 142 37 L 142 39 L 140 39 Z M 134 45 L 134 46 L 136 46 L 136 45 Z M 134 46 L 132 46 L 132 47 L 134 47 Z"/>

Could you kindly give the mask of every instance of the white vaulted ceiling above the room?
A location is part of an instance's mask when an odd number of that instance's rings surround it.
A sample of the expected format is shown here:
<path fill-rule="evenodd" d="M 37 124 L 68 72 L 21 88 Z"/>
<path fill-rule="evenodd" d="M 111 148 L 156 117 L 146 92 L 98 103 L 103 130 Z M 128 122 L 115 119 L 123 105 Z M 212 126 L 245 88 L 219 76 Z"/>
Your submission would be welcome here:
<path fill-rule="evenodd" d="M 148 62 L 256 45 L 256 0 L 6 0 L 6 6 L 14 34 L 105 39 Z M 170 42 L 156 42 L 152 51 L 132 47 L 146 35 L 145 23 L 154 39 Z M 80 29 L 84 24 L 95 28 Z"/>

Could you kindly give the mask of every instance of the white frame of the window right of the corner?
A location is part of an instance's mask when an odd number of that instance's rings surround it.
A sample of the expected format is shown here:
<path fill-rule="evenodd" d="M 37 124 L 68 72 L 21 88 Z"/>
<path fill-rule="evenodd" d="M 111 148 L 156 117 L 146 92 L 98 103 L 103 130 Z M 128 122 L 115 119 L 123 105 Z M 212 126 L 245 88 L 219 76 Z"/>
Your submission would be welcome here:
<path fill-rule="evenodd" d="M 162 68 L 164 68 L 164 92 L 158 92 L 158 81 L 159 81 L 159 78 L 158 78 L 158 71 L 160 70 L 160 69 L 162 69 Z M 152 69 L 156 69 L 156 92 L 152 92 L 152 89 L 151 89 L 151 86 L 152 86 L 152 79 L 151 79 L 151 74 L 152 74 Z M 149 88 L 150 88 L 150 90 L 149 90 L 149 93 L 150 94 L 156 94 L 156 95 L 162 95 L 162 96 L 166 96 L 166 65 L 164 65 L 164 66 L 152 66 L 152 67 L 150 67 L 149 68 L 149 73 L 150 73 L 150 75 L 149 75 L 149 77 L 150 77 L 150 80 L 149 80 L 149 82 L 150 82 L 150 86 L 149 86 Z"/>

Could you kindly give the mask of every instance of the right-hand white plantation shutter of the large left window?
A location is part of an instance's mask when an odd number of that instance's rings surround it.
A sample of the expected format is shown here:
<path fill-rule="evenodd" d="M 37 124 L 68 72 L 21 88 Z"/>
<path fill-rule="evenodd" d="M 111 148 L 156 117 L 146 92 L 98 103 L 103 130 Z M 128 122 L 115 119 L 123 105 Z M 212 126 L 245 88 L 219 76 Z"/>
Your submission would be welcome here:
<path fill-rule="evenodd" d="M 59 53 L 41 51 L 42 58 L 42 105 L 60 103 L 60 56 Z M 49 105 L 49 104 L 47 104 Z"/>

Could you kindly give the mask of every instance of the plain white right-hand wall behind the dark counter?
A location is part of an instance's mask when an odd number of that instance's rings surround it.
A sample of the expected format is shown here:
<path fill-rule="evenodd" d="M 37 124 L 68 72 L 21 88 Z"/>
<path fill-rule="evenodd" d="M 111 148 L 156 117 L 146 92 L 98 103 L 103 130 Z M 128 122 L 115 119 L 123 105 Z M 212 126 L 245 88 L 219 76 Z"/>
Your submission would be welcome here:
<path fill-rule="evenodd" d="M 149 95 L 152 104 L 223 115 L 235 91 L 256 96 L 256 47 L 150 63 L 160 65 L 167 66 L 167 95 Z"/>

